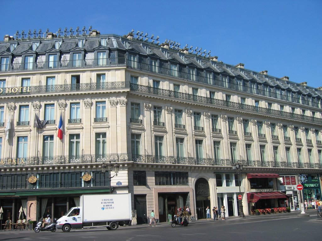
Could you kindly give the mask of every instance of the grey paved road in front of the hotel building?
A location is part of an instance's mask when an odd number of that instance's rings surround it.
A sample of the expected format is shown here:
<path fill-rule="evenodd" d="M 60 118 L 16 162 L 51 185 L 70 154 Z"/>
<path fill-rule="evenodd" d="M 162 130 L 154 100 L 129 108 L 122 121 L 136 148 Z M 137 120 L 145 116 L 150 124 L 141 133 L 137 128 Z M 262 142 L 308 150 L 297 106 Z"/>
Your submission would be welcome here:
<path fill-rule="evenodd" d="M 161 241 L 161 240 L 308 240 L 320 239 L 322 219 L 317 219 L 315 210 L 308 210 L 309 217 L 298 217 L 299 212 L 250 216 L 245 219 L 191 222 L 188 227 L 172 228 L 166 223 L 156 226 L 137 225 L 120 227 L 116 231 L 106 228 L 61 230 L 34 233 L 33 231 L 5 231 L 0 233 L 0 240 L 113 240 L 113 241 Z"/>

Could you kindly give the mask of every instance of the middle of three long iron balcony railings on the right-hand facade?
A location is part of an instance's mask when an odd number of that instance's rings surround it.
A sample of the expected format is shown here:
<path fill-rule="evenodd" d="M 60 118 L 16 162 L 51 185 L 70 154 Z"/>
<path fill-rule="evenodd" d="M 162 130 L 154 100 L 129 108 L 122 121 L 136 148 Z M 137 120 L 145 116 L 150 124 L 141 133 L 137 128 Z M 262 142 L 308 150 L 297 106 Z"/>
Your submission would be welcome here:
<path fill-rule="evenodd" d="M 159 96 L 177 98 L 177 99 L 182 99 L 182 100 L 186 100 L 186 101 L 195 101 L 195 102 L 204 103 L 204 104 L 228 106 L 230 108 L 238 109 L 240 111 L 244 110 L 247 112 L 253 111 L 253 112 L 259 112 L 259 113 L 264 113 L 264 114 L 272 114 L 272 115 L 285 117 L 286 119 L 293 118 L 295 120 L 311 121 L 311 122 L 317 122 L 317 123 L 322 124 L 322 119 L 312 117 L 312 116 L 307 116 L 307 115 L 299 115 L 299 114 L 294 114 L 291 112 L 271 110 L 268 108 L 262 108 L 262 107 L 257 107 L 257 106 L 253 106 L 253 105 L 246 105 L 246 104 L 241 104 L 241 103 L 218 100 L 218 99 L 208 98 L 208 97 L 199 96 L 199 95 L 192 95 L 192 94 L 186 94 L 186 93 L 181 93 L 181 92 L 179 93 L 179 92 L 175 92 L 175 91 L 171 91 L 171 90 L 153 88 L 153 87 L 149 87 L 149 86 L 145 86 L 145 85 L 130 84 L 130 88 L 132 91 L 137 91 L 137 92 L 141 92 L 141 93 L 156 94 Z"/>

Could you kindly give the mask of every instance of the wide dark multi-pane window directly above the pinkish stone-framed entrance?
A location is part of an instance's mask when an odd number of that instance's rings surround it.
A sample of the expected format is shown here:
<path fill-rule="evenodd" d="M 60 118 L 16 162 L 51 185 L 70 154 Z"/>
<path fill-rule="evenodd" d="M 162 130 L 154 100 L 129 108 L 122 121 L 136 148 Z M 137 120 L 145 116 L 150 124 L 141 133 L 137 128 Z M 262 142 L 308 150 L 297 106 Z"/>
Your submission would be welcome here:
<path fill-rule="evenodd" d="M 156 185 L 189 185 L 187 172 L 155 172 Z"/>

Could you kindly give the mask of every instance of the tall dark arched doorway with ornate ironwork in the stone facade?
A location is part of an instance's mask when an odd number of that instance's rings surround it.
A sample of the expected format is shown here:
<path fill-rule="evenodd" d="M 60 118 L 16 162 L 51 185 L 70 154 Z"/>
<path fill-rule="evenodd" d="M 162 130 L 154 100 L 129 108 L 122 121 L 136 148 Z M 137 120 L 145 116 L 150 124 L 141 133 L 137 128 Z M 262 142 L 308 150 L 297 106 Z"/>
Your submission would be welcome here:
<path fill-rule="evenodd" d="M 196 213 L 198 219 L 205 219 L 206 208 L 210 207 L 210 190 L 208 181 L 204 178 L 199 178 L 194 185 L 195 196 L 196 196 Z"/>

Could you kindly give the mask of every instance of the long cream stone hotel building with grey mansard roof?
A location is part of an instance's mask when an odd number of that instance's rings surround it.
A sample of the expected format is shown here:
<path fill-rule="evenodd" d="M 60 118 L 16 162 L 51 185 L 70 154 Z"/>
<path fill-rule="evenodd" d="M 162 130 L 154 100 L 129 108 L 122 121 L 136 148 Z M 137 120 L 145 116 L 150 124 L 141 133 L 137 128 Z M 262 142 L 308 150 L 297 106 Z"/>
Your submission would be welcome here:
<path fill-rule="evenodd" d="M 132 193 L 138 223 L 187 206 L 198 219 L 206 206 L 237 216 L 240 193 L 246 215 L 297 210 L 299 177 L 304 198 L 320 198 L 321 88 L 139 32 L 17 32 L 0 60 L 5 219 L 21 206 L 26 219 L 59 217 L 109 192 Z"/>

